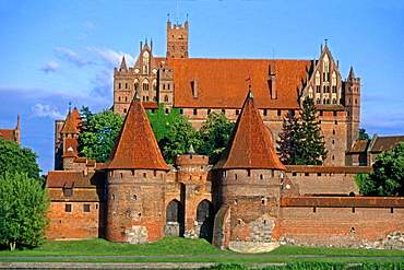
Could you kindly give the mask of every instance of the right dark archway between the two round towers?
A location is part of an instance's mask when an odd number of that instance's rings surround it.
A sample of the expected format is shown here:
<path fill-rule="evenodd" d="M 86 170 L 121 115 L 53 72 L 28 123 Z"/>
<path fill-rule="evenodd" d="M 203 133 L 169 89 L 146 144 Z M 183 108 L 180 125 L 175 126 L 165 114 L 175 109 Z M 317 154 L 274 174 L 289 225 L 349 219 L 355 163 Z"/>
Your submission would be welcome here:
<path fill-rule="evenodd" d="M 200 226 L 199 237 L 212 242 L 215 209 L 209 200 L 203 200 L 197 208 L 197 222 Z"/>

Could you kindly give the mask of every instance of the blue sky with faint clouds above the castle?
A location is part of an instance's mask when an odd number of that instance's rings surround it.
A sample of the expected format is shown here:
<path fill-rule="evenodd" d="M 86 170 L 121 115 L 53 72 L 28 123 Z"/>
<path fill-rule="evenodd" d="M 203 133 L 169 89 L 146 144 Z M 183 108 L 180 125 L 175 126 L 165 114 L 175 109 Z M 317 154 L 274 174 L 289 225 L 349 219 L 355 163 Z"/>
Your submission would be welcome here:
<path fill-rule="evenodd" d="M 178 12 L 177 12 L 178 2 Z M 167 13 L 190 23 L 192 58 L 318 59 L 324 39 L 340 72 L 361 78 L 361 127 L 404 134 L 401 0 L 0 0 L 0 128 L 21 116 L 22 145 L 54 166 L 55 120 L 112 104 L 112 71 L 153 39 L 165 56 Z"/>

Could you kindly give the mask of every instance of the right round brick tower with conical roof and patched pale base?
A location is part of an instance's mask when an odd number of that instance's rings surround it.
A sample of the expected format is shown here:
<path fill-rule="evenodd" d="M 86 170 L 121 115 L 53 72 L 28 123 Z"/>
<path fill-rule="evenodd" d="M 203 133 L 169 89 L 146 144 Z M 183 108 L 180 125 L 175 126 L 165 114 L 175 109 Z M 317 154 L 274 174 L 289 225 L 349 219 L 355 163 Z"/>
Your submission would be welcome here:
<path fill-rule="evenodd" d="M 285 166 L 276 156 L 251 92 L 229 142 L 213 167 L 219 179 L 222 207 L 216 214 L 213 244 L 242 251 L 274 248 Z"/>

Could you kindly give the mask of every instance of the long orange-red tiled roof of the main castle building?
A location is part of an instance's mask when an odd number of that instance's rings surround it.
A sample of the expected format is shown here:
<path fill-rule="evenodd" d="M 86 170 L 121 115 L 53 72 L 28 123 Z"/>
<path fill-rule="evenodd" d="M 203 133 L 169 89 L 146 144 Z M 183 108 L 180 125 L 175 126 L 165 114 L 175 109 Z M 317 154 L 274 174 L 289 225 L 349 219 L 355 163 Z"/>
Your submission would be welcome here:
<path fill-rule="evenodd" d="M 259 108 L 298 109 L 298 87 L 306 83 L 310 60 L 173 58 L 175 107 L 240 108 L 251 83 Z M 277 99 L 271 99 L 270 66 L 276 66 Z M 250 81 L 246 81 L 250 78 Z M 198 79 L 198 99 L 191 82 Z"/>

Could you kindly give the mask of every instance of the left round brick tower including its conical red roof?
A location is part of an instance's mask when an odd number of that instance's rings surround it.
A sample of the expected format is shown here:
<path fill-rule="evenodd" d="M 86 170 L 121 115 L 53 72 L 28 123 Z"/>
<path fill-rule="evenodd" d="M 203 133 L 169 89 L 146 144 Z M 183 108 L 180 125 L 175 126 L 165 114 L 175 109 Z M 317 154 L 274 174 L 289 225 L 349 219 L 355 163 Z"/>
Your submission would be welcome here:
<path fill-rule="evenodd" d="M 139 96 L 132 101 L 107 172 L 106 238 L 141 244 L 164 236 L 165 177 L 169 167 Z"/>

